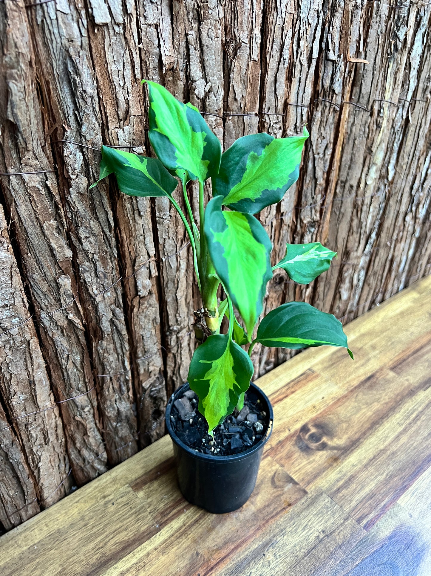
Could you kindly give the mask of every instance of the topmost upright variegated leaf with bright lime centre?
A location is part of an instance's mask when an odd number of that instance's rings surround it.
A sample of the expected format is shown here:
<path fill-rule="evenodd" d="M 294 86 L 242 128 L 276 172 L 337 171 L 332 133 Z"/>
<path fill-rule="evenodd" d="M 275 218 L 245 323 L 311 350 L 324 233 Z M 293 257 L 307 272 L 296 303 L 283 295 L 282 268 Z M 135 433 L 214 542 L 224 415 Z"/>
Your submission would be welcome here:
<path fill-rule="evenodd" d="M 186 170 L 190 180 L 203 183 L 216 175 L 220 141 L 198 109 L 176 100 L 160 84 L 146 82 L 150 102 L 148 135 L 157 157 L 170 170 Z"/>

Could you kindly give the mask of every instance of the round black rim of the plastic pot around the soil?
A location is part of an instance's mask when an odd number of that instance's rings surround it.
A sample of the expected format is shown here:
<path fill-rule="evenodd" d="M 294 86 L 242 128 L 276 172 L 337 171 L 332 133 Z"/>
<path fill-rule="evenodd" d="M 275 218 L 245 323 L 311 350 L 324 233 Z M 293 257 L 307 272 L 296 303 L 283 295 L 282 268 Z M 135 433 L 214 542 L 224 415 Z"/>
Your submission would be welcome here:
<path fill-rule="evenodd" d="M 202 452 L 196 452 L 194 448 L 190 448 L 190 446 L 187 446 L 187 444 L 184 444 L 184 442 L 180 440 L 180 438 L 178 438 L 174 428 L 171 425 L 171 418 L 170 418 L 171 410 L 172 406 L 174 405 L 174 400 L 176 399 L 176 397 L 179 396 L 179 393 L 183 391 L 185 392 L 186 390 L 190 389 L 190 385 L 188 384 L 188 382 L 180 386 L 180 388 L 178 388 L 178 390 L 176 390 L 172 394 L 166 407 L 165 422 L 168 434 L 170 435 L 172 442 L 175 442 L 175 444 L 179 448 L 186 450 L 186 452 L 188 452 L 191 456 L 198 458 L 198 460 L 205 460 L 207 462 L 213 462 L 214 464 L 218 462 L 226 463 L 226 462 L 235 462 L 238 460 L 243 460 L 243 458 L 248 458 L 249 456 L 251 456 L 251 454 L 257 452 L 257 450 L 262 448 L 262 446 L 268 441 L 268 439 L 270 439 L 272 433 L 272 424 L 274 422 L 274 412 L 272 410 L 271 402 L 268 399 L 268 396 L 263 392 L 263 390 L 261 390 L 261 388 L 259 388 L 259 386 L 256 386 L 256 384 L 254 384 L 253 382 L 250 382 L 250 388 L 251 387 L 255 388 L 263 396 L 263 399 L 268 404 L 268 411 L 270 414 L 270 422 L 268 424 L 268 428 L 264 437 L 260 438 L 259 442 L 257 442 L 257 444 L 252 446 L 252 448 L 244 450 L 244 452 L 239 452 L 238 454 L 228 454 L 228 456 L 213 456 L 212 454 L 203 454 Z"/>

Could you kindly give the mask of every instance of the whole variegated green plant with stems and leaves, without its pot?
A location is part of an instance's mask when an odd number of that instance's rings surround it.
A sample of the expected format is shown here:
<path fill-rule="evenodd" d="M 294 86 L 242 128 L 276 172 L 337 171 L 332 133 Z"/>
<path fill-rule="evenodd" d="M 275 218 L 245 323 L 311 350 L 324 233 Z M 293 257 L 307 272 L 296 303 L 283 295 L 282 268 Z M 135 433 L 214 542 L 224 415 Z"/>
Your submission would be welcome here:
<path fill-rule="evenodd" d="M 306 128 L 303 135 L 290 138 L 263 133 L 244 136 L 222 154 L 218 138 L 197 108 L 179 102 L 155 82 L 147 81 L 147 86 L 148 135 L 157 158 L 102 146 L 98 181 L 113 173 L 124 194 L 167 196 L 182 219 L 202 297 L 202 310 L 195 312 L 199 346 L 191 359 L 188 382 L 199 397 L 199 411 L 211 434 L 235 407 L 243 406 L 253 376 L 250 356 L 256 343 L 294 349 L 322 344 L 347 348 L 340 321 L 305 302 L 288 302 L 272 310 L 261 320 L 253 339 L 273 271 L 283 268 L 294 282 L 307 284 L 328 270 L 336 253 L 319 242 L 287 244 L 286 256 L 271 267 L 272 244 L 255 217 L 279 202 L 298 179 L 302 149 L 309 137 Z M 203 190 L 208 179 L 213 198 L 205 207 Z M 198 222 L 187 192 L 190 180 L 199 185 Z M 173 195 L 178 181 L 186 213 Z M 217 298 L 220 286 L 226 294 L 221 302 Z M 228 329 L 221 334 L 225 315 Z"/>

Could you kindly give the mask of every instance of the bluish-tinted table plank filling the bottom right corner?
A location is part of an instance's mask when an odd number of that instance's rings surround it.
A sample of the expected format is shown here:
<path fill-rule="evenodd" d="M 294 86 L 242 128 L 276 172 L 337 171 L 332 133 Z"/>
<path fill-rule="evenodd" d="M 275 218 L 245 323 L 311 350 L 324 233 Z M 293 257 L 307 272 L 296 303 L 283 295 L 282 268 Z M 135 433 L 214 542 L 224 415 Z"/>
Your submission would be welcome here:
<path fill-rule="evenodd" d="M 327 576 L 429 576 L 431 532 L 395 504 Z"/>

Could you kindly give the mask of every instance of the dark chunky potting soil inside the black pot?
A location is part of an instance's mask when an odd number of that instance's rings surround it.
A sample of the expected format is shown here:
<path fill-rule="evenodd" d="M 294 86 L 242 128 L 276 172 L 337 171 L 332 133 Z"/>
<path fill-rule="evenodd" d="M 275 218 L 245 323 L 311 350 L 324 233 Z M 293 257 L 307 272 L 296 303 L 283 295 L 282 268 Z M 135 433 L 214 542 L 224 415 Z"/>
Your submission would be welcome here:
<path fill-rule="evenodd" d="M 245 393 L 244 408 L 226 416 L 214 429 L 214 439 L 208 434 L 205 418 L 198 411 L 198 397 L 193 390 L 175 400 L 171 410 L 171 423 L 178 438 L 190 448 L 203 454 L 229 456 L 252 448 L 266 433 L 269 415 L 261 406 L 257 395 Z"/>

